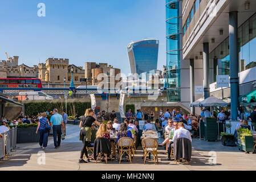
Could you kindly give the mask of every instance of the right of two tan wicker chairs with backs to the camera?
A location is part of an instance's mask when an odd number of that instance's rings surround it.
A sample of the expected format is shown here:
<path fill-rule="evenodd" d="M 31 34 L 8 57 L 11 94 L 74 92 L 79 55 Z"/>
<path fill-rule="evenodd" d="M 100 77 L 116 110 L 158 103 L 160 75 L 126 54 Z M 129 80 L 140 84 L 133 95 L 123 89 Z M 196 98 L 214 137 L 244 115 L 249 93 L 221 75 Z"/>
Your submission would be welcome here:
<path fill-rule="evenodd" d="M 157 140 L 154 138 L 144 138 L 142 141 L 142 147 L 143 147 L 143 151 L 144 151 L 144 164 L 146 162 L 146 158 L 147 155 L 149 153 L 151 153 L 153 155 L 154 158 L 154 162 L 156 164 L 156 159 L 157 159 L 157 163 L 159 162 L 158 156 L 157 156 Z"/>

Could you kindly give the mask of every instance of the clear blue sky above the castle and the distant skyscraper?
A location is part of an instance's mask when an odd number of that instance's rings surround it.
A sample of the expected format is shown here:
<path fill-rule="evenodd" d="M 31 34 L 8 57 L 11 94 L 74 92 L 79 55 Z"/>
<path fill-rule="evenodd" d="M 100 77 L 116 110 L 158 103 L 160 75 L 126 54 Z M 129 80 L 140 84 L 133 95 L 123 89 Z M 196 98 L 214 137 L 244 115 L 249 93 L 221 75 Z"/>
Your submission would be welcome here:
<path fill-rule="evenodd" d="M 38 3 L 46 17 L 38 17 Z M 162 0 L 2 0 L 0 60 L 19 56 L 19 64 L 48 57 L 108 63 L 128 74 L 126 47 L 132 40 L 160 40 L 159 64 L 166 64 L 165 1 Z"/>

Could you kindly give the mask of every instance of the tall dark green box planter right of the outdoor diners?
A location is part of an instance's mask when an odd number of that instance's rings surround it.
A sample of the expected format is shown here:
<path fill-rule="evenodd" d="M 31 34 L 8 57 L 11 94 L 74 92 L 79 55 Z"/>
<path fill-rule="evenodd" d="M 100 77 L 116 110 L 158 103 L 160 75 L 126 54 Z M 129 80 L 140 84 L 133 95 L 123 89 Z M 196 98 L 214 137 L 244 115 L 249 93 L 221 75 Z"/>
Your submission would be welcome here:
<path fill-rule="evenodd" d="M 205 139 L 208 141 L 216 141 L 218 139 L 217 119 L 205 118 Z"/>

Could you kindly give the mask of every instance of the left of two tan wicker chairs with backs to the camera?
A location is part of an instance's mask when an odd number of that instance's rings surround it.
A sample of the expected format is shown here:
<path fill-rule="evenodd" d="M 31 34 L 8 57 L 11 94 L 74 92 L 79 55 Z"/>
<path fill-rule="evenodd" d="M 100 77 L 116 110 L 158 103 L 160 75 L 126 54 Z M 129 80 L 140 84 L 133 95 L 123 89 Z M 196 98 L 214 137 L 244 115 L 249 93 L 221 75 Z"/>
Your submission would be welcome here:
<path fill-rule="evenodd" d="M 122 156 L 126 153 L 129 155 L 130 163 L 132 163 L 132 151 L 134 142 L 133 139 L 129 137 L 120 138 L 117 142 L 117 146 L 119 147 L 119 164 L 121 163 Z"/>

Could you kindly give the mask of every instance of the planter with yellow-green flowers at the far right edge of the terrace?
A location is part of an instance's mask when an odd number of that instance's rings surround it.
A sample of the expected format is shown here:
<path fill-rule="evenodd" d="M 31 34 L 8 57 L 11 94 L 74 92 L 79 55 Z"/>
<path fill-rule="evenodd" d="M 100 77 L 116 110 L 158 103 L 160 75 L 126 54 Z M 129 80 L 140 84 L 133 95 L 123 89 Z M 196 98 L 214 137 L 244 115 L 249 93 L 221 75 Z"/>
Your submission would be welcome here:
<path fill-rule="evenodd" d="M 237 130 L 237 142 L 238 150 L 253 153 L 253 135 L 251 130 L 239 128 Z"/>

